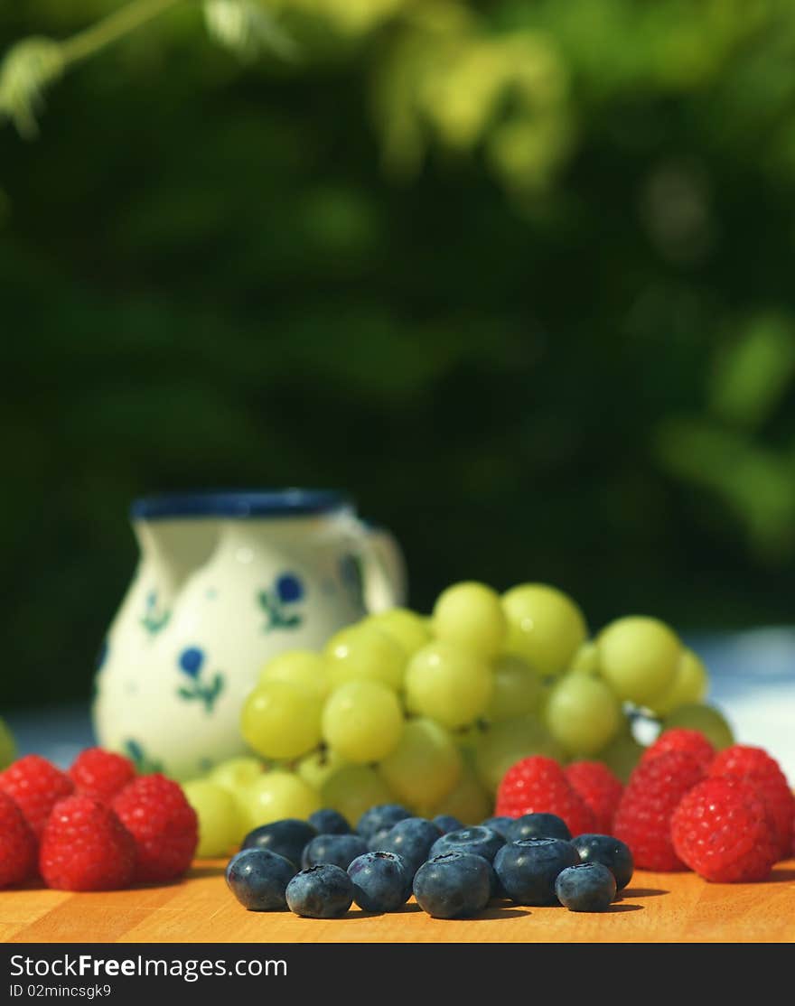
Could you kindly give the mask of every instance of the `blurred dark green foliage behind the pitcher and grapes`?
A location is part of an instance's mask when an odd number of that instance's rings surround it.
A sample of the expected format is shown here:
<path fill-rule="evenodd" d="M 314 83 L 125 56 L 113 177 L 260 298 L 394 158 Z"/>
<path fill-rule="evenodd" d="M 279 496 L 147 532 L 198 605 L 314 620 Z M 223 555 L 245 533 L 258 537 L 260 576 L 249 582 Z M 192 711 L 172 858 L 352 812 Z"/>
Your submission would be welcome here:
<path fill-rule="evenodd" d="M 4 3 L 0 51 L 120 6 Z M 421 610 L 791 622 L 792 4 L 265 10 L 294 56 L 187 0 L 0 128 L 2 705 L 88 695 L 178 488 L 349 490 Z"/>

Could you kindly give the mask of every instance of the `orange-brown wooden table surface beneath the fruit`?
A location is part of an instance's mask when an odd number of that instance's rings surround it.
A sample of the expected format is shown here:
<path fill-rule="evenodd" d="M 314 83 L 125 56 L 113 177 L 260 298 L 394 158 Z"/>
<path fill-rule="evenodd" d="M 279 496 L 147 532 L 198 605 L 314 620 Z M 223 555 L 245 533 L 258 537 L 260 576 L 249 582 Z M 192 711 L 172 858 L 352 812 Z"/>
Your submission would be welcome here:
<path fill-rule="evenodd" d="M 130 890 L 0 892 L 0 942 L 33 943 L 795 943 L 795 860 L 769 880 L 707 883 L 693 873 L 637 871 L 623 897 L 594 914 L 498 902 L 474 919 L 436 919 L 412 899 L 389 914 L 355 905 L 338 919 L 247 911 L 223 860 L 181 881 Z"/>

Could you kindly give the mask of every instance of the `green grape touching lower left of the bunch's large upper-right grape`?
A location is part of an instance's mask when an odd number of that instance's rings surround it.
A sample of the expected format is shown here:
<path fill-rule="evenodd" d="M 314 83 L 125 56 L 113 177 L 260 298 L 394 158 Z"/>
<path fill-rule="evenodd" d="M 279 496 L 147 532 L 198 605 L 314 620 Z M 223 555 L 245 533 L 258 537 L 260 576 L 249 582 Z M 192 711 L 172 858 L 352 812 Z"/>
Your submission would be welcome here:
<path fill-rule="evenodd" d="M 589 674 L 566 674 L 552 685 L 543 709 L 549 733 L 569 754 L 592 756 L 621 728 L 624 712 L 612 688 Z"/>

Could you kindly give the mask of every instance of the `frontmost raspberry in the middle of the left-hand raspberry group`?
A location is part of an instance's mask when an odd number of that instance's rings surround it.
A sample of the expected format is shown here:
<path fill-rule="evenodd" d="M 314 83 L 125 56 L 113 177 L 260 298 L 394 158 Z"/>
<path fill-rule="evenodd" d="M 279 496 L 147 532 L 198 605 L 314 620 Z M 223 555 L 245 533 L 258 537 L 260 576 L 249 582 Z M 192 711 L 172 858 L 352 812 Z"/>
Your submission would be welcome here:
<path fill-rule="evenodd" d="M 135 873 L 135 840 L 94 797 L 71 796 L 52 808 L 41 834 L 38 867 L 56 890 L 119 890 Z"/>

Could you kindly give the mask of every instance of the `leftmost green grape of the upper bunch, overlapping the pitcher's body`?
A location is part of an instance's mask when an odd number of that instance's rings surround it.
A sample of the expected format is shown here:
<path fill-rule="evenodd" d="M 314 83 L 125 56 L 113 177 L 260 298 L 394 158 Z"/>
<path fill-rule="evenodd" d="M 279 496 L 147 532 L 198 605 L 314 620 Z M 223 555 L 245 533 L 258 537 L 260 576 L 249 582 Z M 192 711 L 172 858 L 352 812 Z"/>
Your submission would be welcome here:
<path fill-rule="evenodd" d="M 300 758 L 320 742 L 322 708 L 315 692 L 287 681 L 266 681 L 244 702 L 241 732 L 263 758 Z"/>

